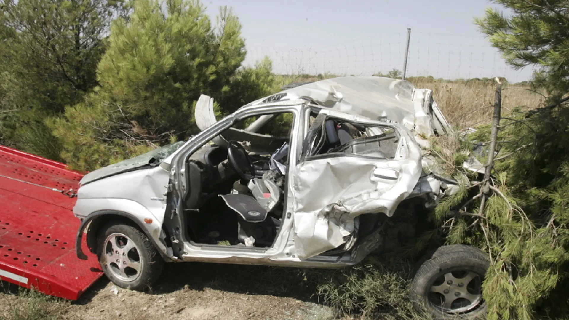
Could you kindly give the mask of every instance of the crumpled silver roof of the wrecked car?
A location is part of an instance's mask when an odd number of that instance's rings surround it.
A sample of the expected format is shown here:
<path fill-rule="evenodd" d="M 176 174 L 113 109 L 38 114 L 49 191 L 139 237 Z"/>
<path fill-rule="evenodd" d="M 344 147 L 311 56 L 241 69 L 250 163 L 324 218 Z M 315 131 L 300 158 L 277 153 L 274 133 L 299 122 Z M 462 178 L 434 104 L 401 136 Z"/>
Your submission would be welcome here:
<path fill-rule="evenodd" d="M 389 120 L 431 136 L 448 132 L 450 125 L 432 100 L 430 89 L 385 77 L 336 77 L 276 93 L 246 105 L 305 99 L 373 120 Z"/>

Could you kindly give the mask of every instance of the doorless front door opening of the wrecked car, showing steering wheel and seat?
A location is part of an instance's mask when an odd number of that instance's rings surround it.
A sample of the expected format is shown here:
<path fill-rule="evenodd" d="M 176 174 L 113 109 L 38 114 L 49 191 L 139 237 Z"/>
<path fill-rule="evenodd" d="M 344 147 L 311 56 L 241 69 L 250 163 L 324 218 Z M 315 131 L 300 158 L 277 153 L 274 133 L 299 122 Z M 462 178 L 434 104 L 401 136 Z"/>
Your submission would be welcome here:
<path fill-rule="evenodd" d="M 292 113 L 246 118 L 190 155 L 184 220 L 193 245 L 273 245 L 283 216 L 293 120 Z M 221 146 L 214 142 L 220 140 Z"/>

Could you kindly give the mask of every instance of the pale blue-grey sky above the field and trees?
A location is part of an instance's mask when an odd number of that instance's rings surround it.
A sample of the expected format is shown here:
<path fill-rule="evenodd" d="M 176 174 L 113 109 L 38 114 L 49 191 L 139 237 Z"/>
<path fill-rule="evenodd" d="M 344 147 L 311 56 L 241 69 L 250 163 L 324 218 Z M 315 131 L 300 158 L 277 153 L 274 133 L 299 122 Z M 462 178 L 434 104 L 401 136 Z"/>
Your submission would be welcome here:
<path fill-rule="evenodd" d="M 444 78 L 506 76 L 514 71 L 473 24 L 486 0 L 203 0 L 212 17 L 223 5 L 242 23 L 246 64 L 268 55 L 278 73 L 371 75 L 402 69 L 411 28 L 408 75 Z"/>

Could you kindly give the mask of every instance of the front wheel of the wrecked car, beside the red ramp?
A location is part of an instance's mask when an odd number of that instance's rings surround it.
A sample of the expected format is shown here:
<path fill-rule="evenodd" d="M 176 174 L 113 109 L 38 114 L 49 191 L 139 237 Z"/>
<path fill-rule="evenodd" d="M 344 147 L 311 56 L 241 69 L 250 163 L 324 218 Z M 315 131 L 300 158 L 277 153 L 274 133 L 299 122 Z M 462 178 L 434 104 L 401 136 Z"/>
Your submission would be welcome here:
<path fill-rule="evenodd" d="M 132 290 L 143 290 L 153 284 L 164 265 L 148 237 L 126 224 L 109 224 L 102 229 L 97 255 L 109 280 Z"/>

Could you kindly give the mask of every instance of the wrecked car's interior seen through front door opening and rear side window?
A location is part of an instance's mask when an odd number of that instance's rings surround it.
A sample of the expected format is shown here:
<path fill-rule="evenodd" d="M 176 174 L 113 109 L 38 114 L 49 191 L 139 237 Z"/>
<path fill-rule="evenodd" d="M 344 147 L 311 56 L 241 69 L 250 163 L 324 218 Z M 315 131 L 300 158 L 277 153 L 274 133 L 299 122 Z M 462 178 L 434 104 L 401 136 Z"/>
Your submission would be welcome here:
<path fill-rule="evenodd" d="M 271 247 L 283 218 L 292 113 L 237 122 L 187 160 L 187 239 L 194 245 Z M 388 128 L 311 114 L 303 157 L 353 154 L 393 158 L 398 136 Z"/>

